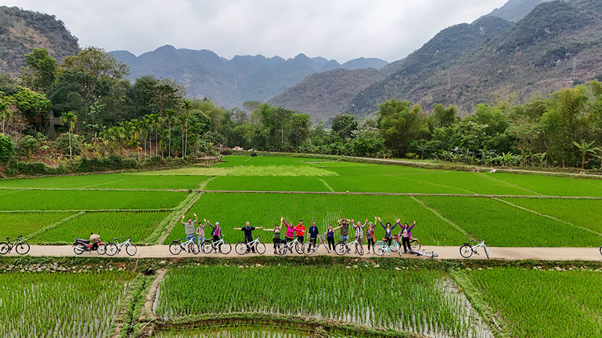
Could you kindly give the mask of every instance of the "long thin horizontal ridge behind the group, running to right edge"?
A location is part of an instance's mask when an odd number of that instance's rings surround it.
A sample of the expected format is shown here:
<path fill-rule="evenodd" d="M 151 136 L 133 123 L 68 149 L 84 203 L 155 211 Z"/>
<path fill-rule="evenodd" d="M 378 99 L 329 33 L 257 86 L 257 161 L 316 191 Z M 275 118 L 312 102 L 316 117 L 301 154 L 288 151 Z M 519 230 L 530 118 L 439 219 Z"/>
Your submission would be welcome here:
<path fill-rule="evenodd" d="M 547 196 L 547 195 L 480 195 L 480 194 L 424 194 L 412 192 L 354 192 L 354 191 L 275 191 L 275 190 L 194 190 L 207 194 L 315 194 L 315 195 L 382 195 L 382 196 L 440 196 L 480 198 L 556 198 L 569 200 L 602 200 L 602 196 Z"/>

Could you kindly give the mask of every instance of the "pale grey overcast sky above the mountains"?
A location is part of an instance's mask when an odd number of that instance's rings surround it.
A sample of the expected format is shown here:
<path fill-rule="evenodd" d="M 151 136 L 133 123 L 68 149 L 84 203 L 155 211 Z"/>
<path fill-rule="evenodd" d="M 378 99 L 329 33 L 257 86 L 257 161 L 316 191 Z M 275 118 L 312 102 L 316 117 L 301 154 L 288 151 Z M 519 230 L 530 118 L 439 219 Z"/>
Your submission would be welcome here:
<path fill-rule="evenodd" d="M 56 15 L 80 46 L 140 55 L 170 44 L 235 55 L 388 62 L 507 0 L 4 0 Z"/>

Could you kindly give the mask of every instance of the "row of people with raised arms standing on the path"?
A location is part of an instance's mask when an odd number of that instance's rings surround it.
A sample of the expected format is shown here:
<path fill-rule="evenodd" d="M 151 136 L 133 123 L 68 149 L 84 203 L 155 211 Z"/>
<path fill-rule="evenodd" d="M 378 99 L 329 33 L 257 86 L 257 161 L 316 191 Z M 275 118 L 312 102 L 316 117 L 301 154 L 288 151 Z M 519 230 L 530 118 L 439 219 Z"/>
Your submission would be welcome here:
<path fill-rule="evenodd" d="M 221 227 L 219 227 L 219 222 L 216 222 L 215 225 L 211 224 L 208 220 L 203 219 L 203 224 L 199 224 L 198 227 L 195 225 L 199 221 L 197 214 L 194 214 L 194 221 L 191 218 L 188 218 L 188 222 L 184 222 L 184 215 L 182 215 L 182 224 L 184 225 L 185 233 L 186 233 L 186 241 L 194 241 L 194 235 L 197 235 L 197 243 L 201 245 L 205 241 L 205 227 L 209 225 L 211 230 L 211 236 L 213 241 L 219 241 L 219 237 L 221 236 Z M 408 223 L 400 222 L 399 219 L 395 221 L 394 225 L 387 222 L 383 224 L 380 217 L 374 217 L 374 223 L 368 222 L 368 219 L 365 219 L 364 224 L 360 221 L 354 224 L 353 219 L 340 219 L 338 220 L 338 227 L 333 227 L 331 224 L 328 225 L 328 230 L 326 232 L 326 240 L 329 250 L 334 250 L 334 231 L 340 229 L 340 241 L 348 243 L 349 242 L 349 227 L 354 229 L 354 237 L 355 241 L 358 241 L 359 245 L 363 245 L 363 235 L 364 229 L 366 234 L 366 241 L 368 245 L 368 254 L 370 254 L 370 247 L 372 247 L 372 251 L 374 252 L 374 245 L 376 244 L 376 229 L 374 225 L 376 224 L 376 220 L 381 223 L 381 226 L 385 230 L 384 241 L 388 246 L 391 246 L 391 242 L 393 239 L 393 229 L 399 225 L 401 231 L 399 232 L 399 236 L 401 238 L 401 244 L 403 245 L 403 252 L 407 253 L 410 251 L 410 239 L 412 238 L 412 228 L 416 225 L 416 221 L 412 223 L 412 225 L 408 225 Z M 235 230 L 241 230 L 244 232 L 244 241 L 246 243 L 250 243 L 253 241 L 253 230 L 255 229 L 263 229 L 264 231 L 273 232 L 272 241 L 274 243 L 274 253 L 276 253 L 276 245 L 281 241 L 291 242 L 295 240 L 295 236 L 300 243 L 303 243 L 305 240 L 305 225 L 303 225 L 303 220 L 300 220 L 298 225 L 293 226 L 289 223 L 286 223 L 283 217 L 280 218 L 280 225 L 274 225 L 272 229 L 264 229 L 264 227 L 251 227 L 250 223 L 246 223 L 245 227 L 235 227 Z M 282 232 L 284 231 L 284 238 L 282 238 Z M 312 222 L 309 229 L 307 229 L 307 234 L 309 234 L 309 241 L 313 244 L 316 244 L 318 240 L 318 236 L 320 236 L 320 230 L 316 226 L 316 222 Z M 356 249 L 357 251 L 357 249 Z M 387 253 L 388 254 L 388 253 Z"/>

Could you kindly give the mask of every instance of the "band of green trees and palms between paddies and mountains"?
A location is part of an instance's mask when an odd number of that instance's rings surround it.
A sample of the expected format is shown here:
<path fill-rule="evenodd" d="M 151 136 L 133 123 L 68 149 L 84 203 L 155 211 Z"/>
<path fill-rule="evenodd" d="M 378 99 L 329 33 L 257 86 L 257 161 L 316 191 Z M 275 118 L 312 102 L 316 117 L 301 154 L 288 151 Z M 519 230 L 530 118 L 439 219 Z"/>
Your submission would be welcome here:
<path fill-rule="evenodd" d="M 224 109 L 189 99 L 183 86 L 152 76 L 125 79 L 127 65 L 89 47 L 62 64 L 35 48 L 21 75 L 0 75 L 0 162 L 46 163 L 120 154 L 137 160 L 261 151 L 439 159 L 472 165 L 601 167 L 602 84 L 564 88 L 524 104 L 479 104 L 460 117 L 405 100 L 370 118 L 340 114 L 325 128 L 304 113 L 262 102 Z M 61 126 L 51 132 L 51 121 Z"/>

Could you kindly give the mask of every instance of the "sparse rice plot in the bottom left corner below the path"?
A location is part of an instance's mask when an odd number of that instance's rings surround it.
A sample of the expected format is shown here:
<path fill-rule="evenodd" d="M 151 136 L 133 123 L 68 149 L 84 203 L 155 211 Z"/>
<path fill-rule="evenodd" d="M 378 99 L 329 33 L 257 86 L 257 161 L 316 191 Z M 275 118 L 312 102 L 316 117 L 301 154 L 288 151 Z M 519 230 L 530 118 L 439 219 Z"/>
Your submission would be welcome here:
<path fill-rule="evenodd" d="M 0 274 L 0 337 L 110 337 L 134 274 Z"/>

